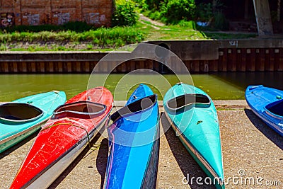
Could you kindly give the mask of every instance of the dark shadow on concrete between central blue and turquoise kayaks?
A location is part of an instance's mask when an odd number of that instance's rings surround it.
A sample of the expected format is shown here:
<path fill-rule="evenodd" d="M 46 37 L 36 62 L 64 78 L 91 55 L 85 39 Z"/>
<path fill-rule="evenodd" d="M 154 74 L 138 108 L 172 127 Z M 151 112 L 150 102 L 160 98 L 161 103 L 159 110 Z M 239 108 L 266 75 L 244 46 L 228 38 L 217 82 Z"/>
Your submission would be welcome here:
<path fill-rule="evenodd" d="M 163 130 L 166 130 L 170 124 L 164 114 L 161 115 L 161 124 L 162 124 Z M 165 133 L 165 136 L 168 141 L 169 147 L 173 153 L 173 156 L 175 157 L 178 163 L 178 166 L 183 172 L 184 177 L 186 178 L 195 177 L 195 179 L 192 180 L 192 183 L 190 181 L 188 183 L 190 185 L 190 188 L 192 189 L 215 188 L 214 185 L 205 185 L 205 184 L 197 185 L 196 178 L 201 177 L 203 181 L 203 179 L 206 178 L 207 175 L 204 173 L 204 171 L 202 171 L 202 168 L 200 168 L 200 166 L 192 158 L 192 156 L 190 156 L 187 149 L 185 149 L 182 142 L 180 142 L 180 139 L 178 139 L 178 137 L 176 136 L 175 131 L 173 130 L 172 127 L 170 127 L 169 130 L 167 130 L 167 132 Z M 185 188 L 185 185 L 184 185 L 184 188 Z"/>

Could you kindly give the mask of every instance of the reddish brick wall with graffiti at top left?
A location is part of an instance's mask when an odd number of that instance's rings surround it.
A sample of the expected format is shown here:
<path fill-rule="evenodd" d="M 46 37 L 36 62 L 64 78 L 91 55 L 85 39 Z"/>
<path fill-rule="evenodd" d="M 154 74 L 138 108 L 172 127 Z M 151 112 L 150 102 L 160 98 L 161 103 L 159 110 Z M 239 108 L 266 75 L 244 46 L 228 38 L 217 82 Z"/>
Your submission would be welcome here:
<path fill-rule="evenodd" d="M 60 25 L 86 21 L 111 24 L 114 0 L 0 0 L 0 27 L 7 25 Z"/>

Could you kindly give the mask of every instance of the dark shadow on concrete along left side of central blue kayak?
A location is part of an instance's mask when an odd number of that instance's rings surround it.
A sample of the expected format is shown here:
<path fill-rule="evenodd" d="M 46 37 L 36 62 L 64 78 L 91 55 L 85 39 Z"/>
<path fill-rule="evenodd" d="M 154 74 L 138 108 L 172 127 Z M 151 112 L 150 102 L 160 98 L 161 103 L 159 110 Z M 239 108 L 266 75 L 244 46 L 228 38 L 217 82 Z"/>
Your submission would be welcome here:
<path fill-rule="evenodd" d="M 99 147 L 98 156 L 96 158 L 96 168 L 101 176 L 101 182 L 100 182 L 101 189 L 103 189 L 107 161 L 108 161 L 108 139 L 103 139 Z"/>

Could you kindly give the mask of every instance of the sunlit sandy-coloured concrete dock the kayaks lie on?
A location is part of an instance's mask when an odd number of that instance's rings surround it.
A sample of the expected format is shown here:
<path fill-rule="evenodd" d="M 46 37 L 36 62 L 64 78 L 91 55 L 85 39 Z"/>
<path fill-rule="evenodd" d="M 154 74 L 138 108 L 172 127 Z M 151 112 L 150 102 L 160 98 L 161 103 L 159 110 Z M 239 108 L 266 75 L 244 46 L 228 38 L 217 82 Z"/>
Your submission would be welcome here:
<path fill-rule="evenodd" d="M 253 114 L 246 101 L 214 103 L 221 130 L 226 188 L 282 188 L 283 138 Z M 169 127 L 165 116 L 161 116 L 161 126 L 161 130 Z M 11 185 L 36 134 L 0 154 L 0 188 Z M 93 149 L 86 148 L 50 188 L 102 188 L 108 139 L 97 136 L 91 143 Z M 197 181 L 198 177 L 202 181 Z M 185 178 L 189 178 L 188 183 Z M 205 178 L 170 128 L 161 137 L 158 188 L 214 188 L 204 183 Z"/>

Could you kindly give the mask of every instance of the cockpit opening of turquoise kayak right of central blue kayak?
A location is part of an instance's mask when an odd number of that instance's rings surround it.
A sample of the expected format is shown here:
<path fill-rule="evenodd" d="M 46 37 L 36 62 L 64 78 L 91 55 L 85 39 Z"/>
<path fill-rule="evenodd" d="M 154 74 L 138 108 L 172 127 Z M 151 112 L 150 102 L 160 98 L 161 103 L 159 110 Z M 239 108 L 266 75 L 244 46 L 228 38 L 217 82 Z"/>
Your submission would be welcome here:
<path fill-rule="evenodd" d="M 169 110 L 179 110 L 187 105 L 195 105 L 196 107 L 209 107 L 210 99 L 203 94 L 184 94 L 172 98 L 166 102 L 166 106 Z"/>

